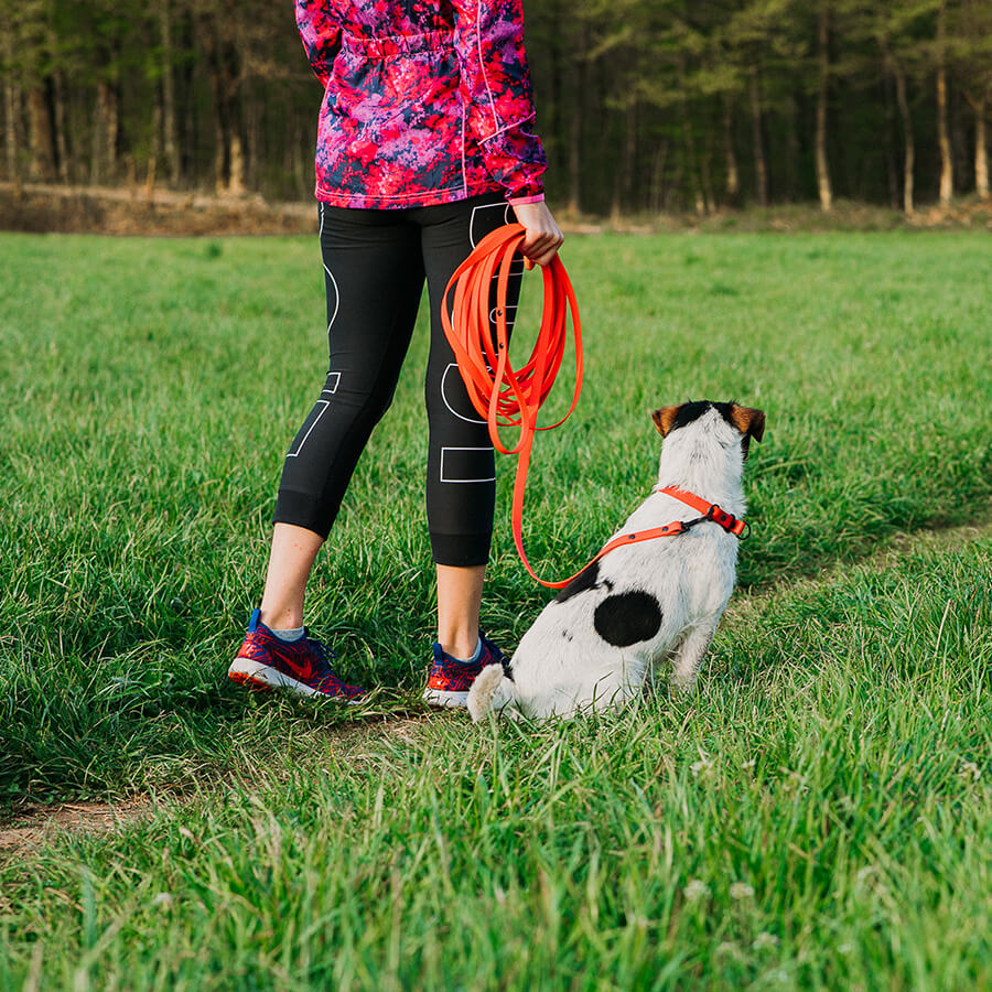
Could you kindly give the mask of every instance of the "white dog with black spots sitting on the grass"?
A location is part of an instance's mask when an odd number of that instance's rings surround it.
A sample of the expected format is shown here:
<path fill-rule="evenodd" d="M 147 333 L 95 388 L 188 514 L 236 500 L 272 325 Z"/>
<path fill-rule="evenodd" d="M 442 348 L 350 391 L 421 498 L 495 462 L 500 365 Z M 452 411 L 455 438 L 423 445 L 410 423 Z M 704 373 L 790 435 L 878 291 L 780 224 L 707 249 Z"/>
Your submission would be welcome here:
<path fill-rule="evenodd" d="M 541 719 L 618 709 L 669 661 L 676 686 L 694 684 L 734 589 L 737 521 L 745 510 L 741 476 L 751 439 L 762 440 L 765 414 L 699 401 L 651 416 L 665 438 L 658 485 L 615 538 L 683 521 L 678 536 L 623 544 L 576 575 L 543 608 L 506 669 L 482 670 L 468 693 L 473 720 L 489 710 Z M 666 487 L 719 510 L 701 517 L 658 492 Z"/>

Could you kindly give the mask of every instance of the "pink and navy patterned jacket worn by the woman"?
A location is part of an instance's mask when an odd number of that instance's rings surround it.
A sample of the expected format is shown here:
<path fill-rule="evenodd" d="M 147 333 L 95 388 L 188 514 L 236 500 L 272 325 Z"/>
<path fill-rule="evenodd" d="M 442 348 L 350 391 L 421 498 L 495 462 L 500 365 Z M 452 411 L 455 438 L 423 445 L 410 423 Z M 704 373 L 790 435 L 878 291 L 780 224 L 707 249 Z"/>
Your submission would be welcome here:
<path fill-rule="evenodd" d="M 316 197 L 430 206 L 541 198 L 520 0 L 295 0 L 324 85 Z"/>

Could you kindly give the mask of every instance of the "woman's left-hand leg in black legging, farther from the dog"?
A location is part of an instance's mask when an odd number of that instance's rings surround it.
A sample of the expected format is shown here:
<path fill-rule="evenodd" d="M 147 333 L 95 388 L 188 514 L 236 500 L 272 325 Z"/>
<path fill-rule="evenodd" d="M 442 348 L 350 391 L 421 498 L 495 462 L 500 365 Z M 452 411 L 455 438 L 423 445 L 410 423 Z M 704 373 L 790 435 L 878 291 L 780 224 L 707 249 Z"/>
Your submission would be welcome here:
<path fill-rule="evenodd" d="M 316 553 L 392 401 L 423 289 L 420 233 L 405 214 L 321 205 L 331 363 L 282 471 L 261 604 L 269 627 L 302 625 Z"/>

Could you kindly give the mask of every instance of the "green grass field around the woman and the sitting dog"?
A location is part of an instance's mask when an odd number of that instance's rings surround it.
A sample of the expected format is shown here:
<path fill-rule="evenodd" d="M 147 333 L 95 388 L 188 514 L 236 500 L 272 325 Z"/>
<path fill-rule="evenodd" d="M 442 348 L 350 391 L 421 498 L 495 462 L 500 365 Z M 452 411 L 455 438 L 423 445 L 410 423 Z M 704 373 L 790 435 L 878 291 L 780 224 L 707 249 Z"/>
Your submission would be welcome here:
<path fill-rule="evenodd" d="M 315 242 L 0 235 L 0 823 L 141 808 L 0 848 L 0 990 L 992 988 L 988 237 L 564 258 L 586 386 L 531 560 L 597 549 L 688 398 L 767 413 L 753 538 L 693 698 L 474 727 L 418 701 L 424 323 L 308 606 L 377 691 L 259 701 L 224 673 L 325 369 Z M 547 599 L 510 483 L 508 648 Z"/>

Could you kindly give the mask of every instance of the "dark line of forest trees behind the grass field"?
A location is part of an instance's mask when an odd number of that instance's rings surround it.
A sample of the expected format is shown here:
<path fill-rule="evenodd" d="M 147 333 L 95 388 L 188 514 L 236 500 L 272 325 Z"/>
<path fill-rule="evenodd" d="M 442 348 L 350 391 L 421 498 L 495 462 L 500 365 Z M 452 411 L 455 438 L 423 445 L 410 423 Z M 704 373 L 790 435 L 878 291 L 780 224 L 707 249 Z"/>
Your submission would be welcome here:
<path fill-rule="evenodd" d="M 989 195 L 992 0 L 525 0 L 549 193 L 586 213 Z M 15 182 L 304 197 L 292 3 L 0 0 Z"/>

